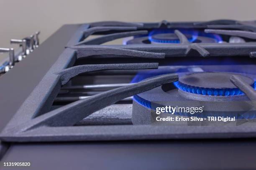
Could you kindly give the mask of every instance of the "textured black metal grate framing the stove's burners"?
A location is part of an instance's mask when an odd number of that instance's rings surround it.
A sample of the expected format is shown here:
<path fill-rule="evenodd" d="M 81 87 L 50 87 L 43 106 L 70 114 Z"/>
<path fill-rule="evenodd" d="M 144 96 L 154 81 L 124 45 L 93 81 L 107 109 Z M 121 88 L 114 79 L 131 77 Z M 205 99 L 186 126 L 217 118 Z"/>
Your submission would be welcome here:
<path fill-rule="evenodd" d="M 121 37 L 148 34 L 154 28 L 172 28 L 179 38 L 179 44 L 168 45 L 100 45 L 110 40 Z M 28 142 L 28 141 L 72 141 L 72 140 L 134 140 L 134 139 L 166 139 L 166 138 L 232 138 L 232 137 L 255 137 L 256 128 L 201 128 L 201 127 L 156 127 L 131 125 L 131 122 L 124 118 L 123 124 L 102 127 L 95 123 L 95 126 L 81 126 L 89 115 L 98 112 L 100 109 L 120 107 L 130 108 L 131 105 L 113 105 L 116 102 L 131 100 L 131 96 L 151 90 L 160 85 L 175 82 L 178 80 L 176 74 L 161 75 L 142 82 L 127 84 L 120 78 L 119 83 L 104 85 L 104 80 L 99 85 L 72 85 L 72 81 L 84 81 L 79 77 L 97 76 L 96 72 L 112 71 L 108 76 L 118 76 L 115 70 L 122 70 L 131 80 L 134 70 L 157 69 L 158 62 L 149 61 L 151 59 L 164 60 L 172 57 L 254 57 L 256 42 L 250 43 L 190 43 L 187 37 L 180 32 L 179 28 L 195 29 L 222 29 L 206 30 L 223 35 L 235 35 L 255 39 L 254 32 L 256 27 L 246 23 L 239 23 L 235 20 L 214 20 L 210 22 L 198 23 L 123 23 L 123 22 L 99 22 L 83 24 L 74 32 L 63 52 L 59 55 L 56 62 L 52 63 L 51 69 L 42 77 L 41 82 L 27 96 L 26 101 L 21 105 L 13 119 L 8 123 L 0 134 L 0 139 L 7 142 Z M 223 30 L 224 29 L 224 30 Z M 238 30 L 225 30 L 238 29 Z M 90 35 L 100 34 L 102 36 L 94 39 L 87 39 Z M 57 42 L 57 40 L 56 40 Z M 115 63 L 108 64 L 79 64 L 89 61 L 90 57 L 115 60 Z M 122 59 L 129 60 L 137 58 L 136 63 L 123 62 Z M 90 60 L 92 60 L 90 58 Z M 74 65 L 76 63 L 76 65 Z M 92 73 L 92 75 L 88 73 Z M 95 73 L 95 74 L 94 74 Z M 124 76 L 125 74 L 123 74 Z M 116 78 L 115 78 L 116 80 Z M 244 90 L 246 85 L 233 77 L 233 83 Z M 95 80 L 91 80 L 96 81 Z M 122 82 L 123 81 L 123 82 Z M 125 84 L 126 83 L 126 84 Z M 240 84 L 239 84 L 240 83 Z M 65 85 L 65 86 L 63 86 Z M 94 86 L 93 86 L 94 85 Z M 73 93 L 76 90 L 94 89 L 92 91 L 82 91 L 87 96 L 84 98 L 72 99 L 67 105 L 53 105 L 57 102 L 58 95 L 65 94 L 69 90 Z M 102 90 L 103 89 L 103 90 Z M 67 90 L 67 91 L 65 91 Z M 248 89 L 247 89 L 248 90 Z M 249 89 L 250 90 L 250 89 Z M 244 90 L 247 94 L 246 89 Z M 57 98 L 56 98 L 57 96 Z M 252 96 L 250 96 L 252 97 Z M 254 97 L 254 95 L 253 95 Z M 252 97 L 252 98 L 253 98 Z M 60 97 L 59 97 L 60 99 Z M 59 100 L 60 101 L 60 100 Z M 111 117 L 113 121 L 115 119 Z M 97 121 L 91 117 L 90 120 Z M 113 124 L 111 121 L 111 124 Z M 93 123 L 92 123 L 93 124 Z M 91 124 L 91 125 L 92 125 Z M 104 124 L 104 121 L 103 121 Z M 120 120 L 118 120 L 120 124 Z M 74 126 L 79 125 L 79 126 Z M 229 133 L 231 132 L 231 133 Z M 250 133 L 249 133 L 250 132 Z M 228 133 L 228 134 L 227 134 Z"/>

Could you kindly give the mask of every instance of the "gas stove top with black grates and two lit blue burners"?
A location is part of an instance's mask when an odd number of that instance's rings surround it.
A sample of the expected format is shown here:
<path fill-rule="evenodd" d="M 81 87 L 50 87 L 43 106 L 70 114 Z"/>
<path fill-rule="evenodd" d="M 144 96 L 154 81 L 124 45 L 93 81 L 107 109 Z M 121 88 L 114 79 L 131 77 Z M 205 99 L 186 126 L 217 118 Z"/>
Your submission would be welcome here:
<path fill-rule="evenodd" d="M 2 66 L 4 143 L 255 137 L 256 21 L 109 21 L 34 37 Z"/>

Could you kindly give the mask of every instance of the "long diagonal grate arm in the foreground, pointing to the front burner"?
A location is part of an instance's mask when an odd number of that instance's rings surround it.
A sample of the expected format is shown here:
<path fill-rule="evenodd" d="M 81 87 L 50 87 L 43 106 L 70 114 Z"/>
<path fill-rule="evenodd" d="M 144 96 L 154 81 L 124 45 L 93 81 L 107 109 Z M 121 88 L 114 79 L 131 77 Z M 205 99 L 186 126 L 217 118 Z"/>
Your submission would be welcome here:
<path fill-rule="evenodd" d="M 119 100 L 151 90 L 169 82 L 175 82 L 177 80 L 177 74 L 167 74 L 153 77 L 151 79 L 125 87 L 108 90 L 98 95 L 93 95 L 92 97 L 78 100 L 68 105 L 59 107 L 55 110 L 45 113 L 44 115 L 38 116 L 31 121 L 18 125 L 15 127 L 15 129 L 12 130 L 16 132 L 17 130 L 26 131 L 45 125 L 72 126 L 80 120 L 84 119 L 84 117 L 91 115 L 93 112 L 112 105 Z M 81 112 L 81 110 L 86 110 L 86 112 Z"/>

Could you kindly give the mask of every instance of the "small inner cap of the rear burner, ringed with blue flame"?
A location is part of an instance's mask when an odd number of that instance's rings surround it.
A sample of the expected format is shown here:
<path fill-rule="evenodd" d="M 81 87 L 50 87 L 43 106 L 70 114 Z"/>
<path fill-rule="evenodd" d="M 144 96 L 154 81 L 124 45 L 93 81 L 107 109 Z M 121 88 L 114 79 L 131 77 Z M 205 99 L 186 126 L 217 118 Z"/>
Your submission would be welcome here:
<path fill-rule="evenodd" d="M 185 34 L 188 40 L 192 40 L 192 35 Z M 174 33 L 162 33 L 162 34 L 155 34 L 151 36 L 152 42 L 159 42 L 159 43 L 179 43 L 179 38 Z"/>

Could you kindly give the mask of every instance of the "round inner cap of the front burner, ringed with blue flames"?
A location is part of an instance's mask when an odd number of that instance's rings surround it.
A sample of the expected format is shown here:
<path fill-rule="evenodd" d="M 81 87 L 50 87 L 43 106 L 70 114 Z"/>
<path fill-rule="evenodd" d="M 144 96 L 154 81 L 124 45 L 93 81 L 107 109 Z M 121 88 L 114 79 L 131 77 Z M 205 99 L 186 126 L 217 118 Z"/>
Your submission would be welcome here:
<path fill-rule="evenodd" d="M 180 77 L 175 85 L 180 90 L 199 95 L 229 96 L 243 94 L 243 92 L 230 81 L 231 75 L 234 74 L 224 72 L 194 73 Z M 254 80 L 250 77 L 243 75 L 238 76 L 249 85 L 254 85 Z"/>

